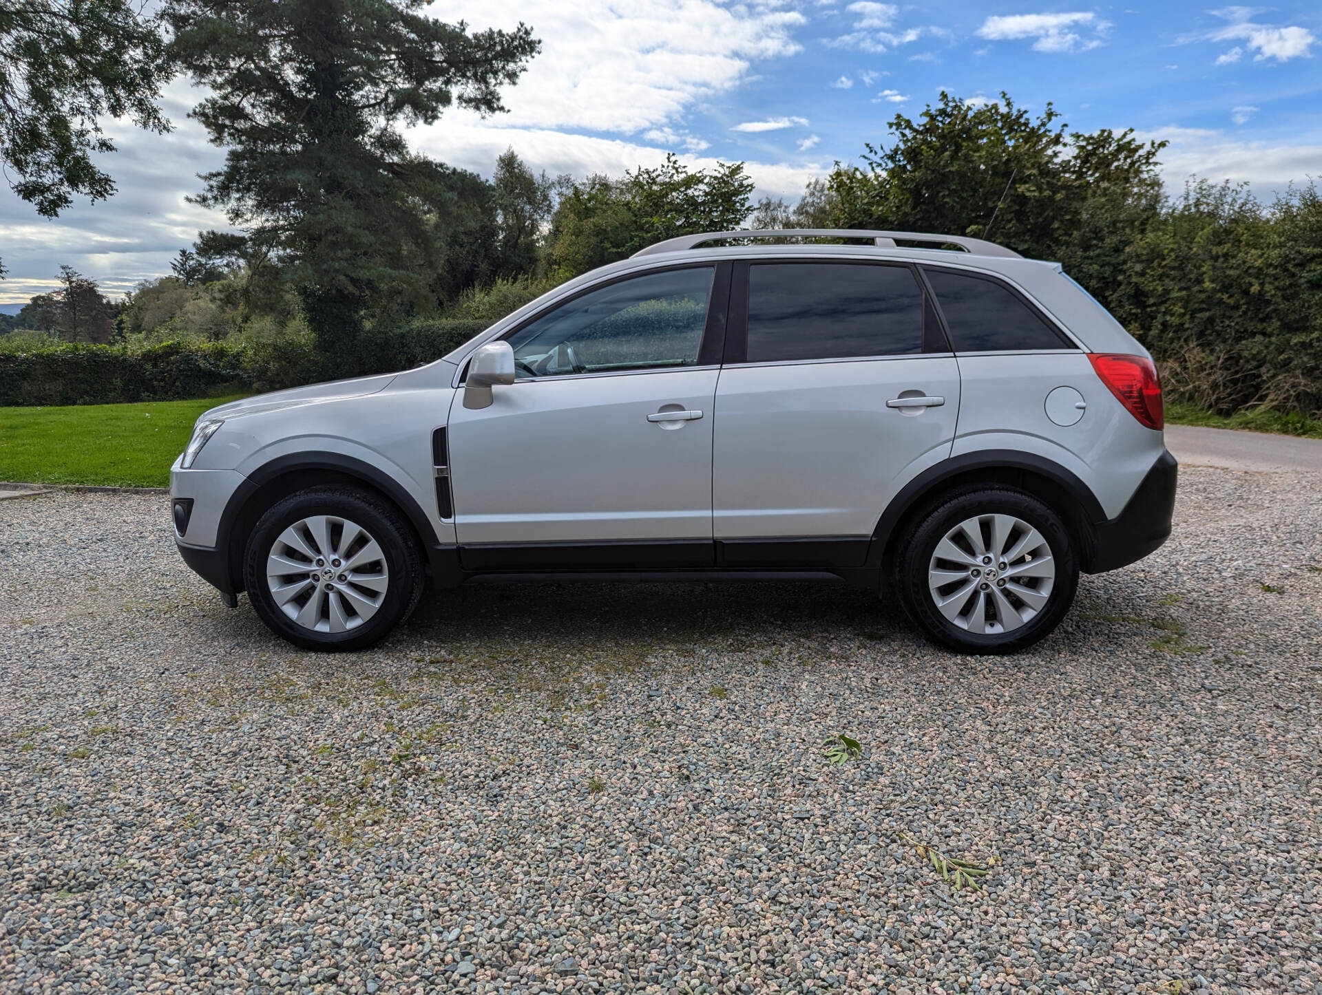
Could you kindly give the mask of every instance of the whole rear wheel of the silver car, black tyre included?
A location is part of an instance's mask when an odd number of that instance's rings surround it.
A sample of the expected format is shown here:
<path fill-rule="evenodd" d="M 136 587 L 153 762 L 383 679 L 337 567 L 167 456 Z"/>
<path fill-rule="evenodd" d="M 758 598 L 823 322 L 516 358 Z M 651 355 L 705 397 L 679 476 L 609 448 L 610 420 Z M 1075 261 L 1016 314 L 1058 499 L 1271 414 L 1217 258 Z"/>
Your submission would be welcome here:
<path fill-rule="evenodd" d="M 895 567 L 910 618 L 932 641 L 972 654 L 1034 645 L 1060 624 L 1079 587 L 1079 556 L 1060 515 L 1009 488 L 947 497 L 906 530 Z"/>

